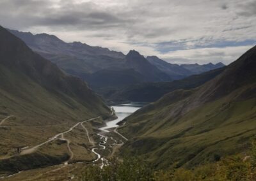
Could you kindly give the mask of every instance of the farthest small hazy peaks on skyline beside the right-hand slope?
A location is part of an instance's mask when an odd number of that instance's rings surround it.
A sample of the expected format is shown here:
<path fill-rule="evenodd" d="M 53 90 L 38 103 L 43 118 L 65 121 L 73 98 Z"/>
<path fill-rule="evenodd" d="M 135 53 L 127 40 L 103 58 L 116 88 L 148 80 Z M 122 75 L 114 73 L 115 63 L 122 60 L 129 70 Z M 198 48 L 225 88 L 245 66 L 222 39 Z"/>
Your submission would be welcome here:
<path fill-rule="evenodd" d="M 212 69 L 217 69 L 217 68 L 222 68 L 225 66 L 225 64 L 219 62 L 217 64 L 204 64 L 204 65 L 200 65 L 200 64 L 181 64 L 180 65 L 182 68 L 188 69 L 191 74 L 199 74 L 199 73 L 203 73 L 205 71 L 210 71 Z"/>

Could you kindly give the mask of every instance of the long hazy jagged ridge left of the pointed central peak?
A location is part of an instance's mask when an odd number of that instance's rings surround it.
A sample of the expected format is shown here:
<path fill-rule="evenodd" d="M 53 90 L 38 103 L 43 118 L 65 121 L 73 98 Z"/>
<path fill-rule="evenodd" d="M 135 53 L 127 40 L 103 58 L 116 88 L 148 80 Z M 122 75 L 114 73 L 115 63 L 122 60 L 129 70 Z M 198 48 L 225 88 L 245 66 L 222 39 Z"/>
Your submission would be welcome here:
<path fill-rule="evenodd" d="M 80 42 L 66 43 L 56 36 L 45 33 L 33 35 L 13 30 L 10 32 L 65 71 L 93 73 L 115 66 L 125 57 L 121 52 L 110 51 L 108 48 L 92 47 Z"/>

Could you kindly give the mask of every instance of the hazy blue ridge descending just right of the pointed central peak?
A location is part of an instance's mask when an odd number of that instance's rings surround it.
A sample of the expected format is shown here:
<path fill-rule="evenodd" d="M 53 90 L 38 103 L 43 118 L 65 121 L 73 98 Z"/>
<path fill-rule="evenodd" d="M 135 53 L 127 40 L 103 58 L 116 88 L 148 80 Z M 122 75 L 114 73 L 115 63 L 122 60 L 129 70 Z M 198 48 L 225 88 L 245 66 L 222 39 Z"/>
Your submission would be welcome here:
<path fill-rule="evenodd" d="M 193 74 L 189 69 L 183 68 L 178 64 L 170 64 L 156 56 L 147 57 L 147 60 L 174 80 L 185 78 L 186 76 Z"/>

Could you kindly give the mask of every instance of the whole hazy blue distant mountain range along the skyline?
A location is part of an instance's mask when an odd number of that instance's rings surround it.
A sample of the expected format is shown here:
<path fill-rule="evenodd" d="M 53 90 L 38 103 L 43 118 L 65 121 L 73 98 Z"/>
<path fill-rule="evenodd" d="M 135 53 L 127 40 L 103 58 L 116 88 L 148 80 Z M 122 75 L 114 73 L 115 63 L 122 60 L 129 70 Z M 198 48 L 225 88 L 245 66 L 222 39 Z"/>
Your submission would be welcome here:
<path fill-rule="evenodd" d="M 83 78 L 97 92 L 120 89 L 141 82 L 166 82 L 220 68 L 224 64 L 177 65 L 157 57 L 143 57 L 131 50 L 129 54 L 108 48 L 91 47 L 85 43 L 66 43 L 49 34 L 31 34 L 9 30 L 34 52 L 57 64 L 70 75 Z M 106 94 L 106 92 L 104 92 Z"/>

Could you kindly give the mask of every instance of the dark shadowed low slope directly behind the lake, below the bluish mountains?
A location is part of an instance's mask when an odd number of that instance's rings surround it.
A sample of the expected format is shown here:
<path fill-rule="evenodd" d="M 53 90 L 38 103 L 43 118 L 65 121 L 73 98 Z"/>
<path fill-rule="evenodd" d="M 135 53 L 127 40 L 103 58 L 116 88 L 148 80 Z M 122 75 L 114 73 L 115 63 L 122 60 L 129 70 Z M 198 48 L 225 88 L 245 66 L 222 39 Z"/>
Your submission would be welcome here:
<path fill-rule="evenodd" d="M 104 94 L 107 101 L 122 103 L 126 101 L 132 102 L 154 102 L 169 92 L 177 89 L 193 89 L 219 75 L 225 68 L 214 69 L 200 75 L 192 75 L 182 80 L 173 82 L 148 82 L 137 83 L 126 86 L 116 91 L 109 91 Z"/>

